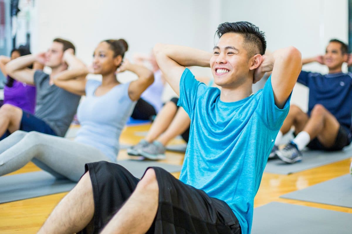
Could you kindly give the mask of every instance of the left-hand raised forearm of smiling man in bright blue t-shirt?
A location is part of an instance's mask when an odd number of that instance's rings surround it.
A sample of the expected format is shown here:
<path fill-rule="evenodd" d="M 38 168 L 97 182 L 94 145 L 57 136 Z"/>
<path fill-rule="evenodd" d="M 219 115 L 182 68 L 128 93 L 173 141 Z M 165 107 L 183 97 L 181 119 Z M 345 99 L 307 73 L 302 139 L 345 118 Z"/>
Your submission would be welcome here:
<path fill-rule="evenodd" d="M 168 56 L 178 64 L 184 67 L 199 66 L 210 67 L 210 58 L 212 54 L 200 49 L 186 46 L 157 44 L 154 47 L 156 56 L 160 53 Z"/>

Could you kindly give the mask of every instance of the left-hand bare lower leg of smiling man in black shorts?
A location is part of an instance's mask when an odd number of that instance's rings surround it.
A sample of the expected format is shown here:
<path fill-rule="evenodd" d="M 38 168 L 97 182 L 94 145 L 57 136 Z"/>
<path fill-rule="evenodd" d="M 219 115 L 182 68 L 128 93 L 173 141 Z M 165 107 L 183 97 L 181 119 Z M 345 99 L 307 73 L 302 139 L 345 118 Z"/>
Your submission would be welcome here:
<path fill-rule="evenodd" d="M 79 232 L 92 220 L 93 214 L 93 188 L 87 172 L 76 187 L 58 203 L 38 233 Z"/>

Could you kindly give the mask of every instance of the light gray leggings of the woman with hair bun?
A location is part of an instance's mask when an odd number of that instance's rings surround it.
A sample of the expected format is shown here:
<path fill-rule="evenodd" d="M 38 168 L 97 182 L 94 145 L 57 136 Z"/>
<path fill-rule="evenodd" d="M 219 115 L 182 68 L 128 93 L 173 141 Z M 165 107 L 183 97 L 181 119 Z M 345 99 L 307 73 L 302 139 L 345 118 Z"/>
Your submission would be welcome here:
<path fill-rule="evenodd" d="M 16 131 L 0 141 L 0 176 L 16 171 L 29 161 L 57 178 L 78 181 L 84 164 L 111 160 L 99 149 L 59 136 Z"/>

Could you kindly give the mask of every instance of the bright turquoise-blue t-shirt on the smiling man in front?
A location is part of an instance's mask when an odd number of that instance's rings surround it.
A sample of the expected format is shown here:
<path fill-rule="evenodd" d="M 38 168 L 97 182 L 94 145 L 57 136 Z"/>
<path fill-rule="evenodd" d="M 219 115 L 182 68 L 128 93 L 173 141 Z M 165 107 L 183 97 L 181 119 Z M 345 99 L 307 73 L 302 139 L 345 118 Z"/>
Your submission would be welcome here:
<path fill-rule="evenodd" d="M 283 109 L 276 107 L 270 77 L 256 94 L 222 102 L 220 89 L 195 80 L 186 68 L 178 105 L 191 119 L 180 180 L 225 201 L 242 233 L 250 233 L 254 196 L 289 100 Z"/>

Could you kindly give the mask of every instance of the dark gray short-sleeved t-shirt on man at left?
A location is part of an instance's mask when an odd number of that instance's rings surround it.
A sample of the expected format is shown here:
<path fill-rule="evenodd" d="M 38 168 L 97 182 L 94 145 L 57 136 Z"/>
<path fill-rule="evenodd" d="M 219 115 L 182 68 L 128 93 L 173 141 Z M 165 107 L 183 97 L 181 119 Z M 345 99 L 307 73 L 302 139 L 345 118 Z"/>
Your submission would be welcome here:
<path fill-rule="evenodd" d="M 49 84 L 49 74 L 34 73 L 37 88 L 35 116 L 46 122 L 58 135 L 64 136 L 77 111 L 81 96 Z"/>

